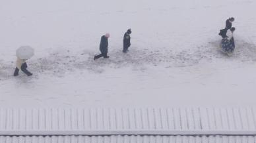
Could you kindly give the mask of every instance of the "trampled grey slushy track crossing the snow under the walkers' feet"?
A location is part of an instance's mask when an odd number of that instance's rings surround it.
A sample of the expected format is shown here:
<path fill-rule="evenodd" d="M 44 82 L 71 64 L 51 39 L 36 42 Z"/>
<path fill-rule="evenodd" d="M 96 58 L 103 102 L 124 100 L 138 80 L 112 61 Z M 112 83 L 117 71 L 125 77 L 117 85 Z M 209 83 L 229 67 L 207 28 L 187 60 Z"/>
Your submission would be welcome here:
<path fill-rule="evenodd" d="M 82 51 L 79 54 L 69 50 L 53 52 L 46 57 L 28 60 L 28 69 L 35 75 L 43 73 L 62 77 L 64 73 L 72 73 L 74 70 L 88 70 L 93 73 L 102 73 L 104 68 L 123 68 L 127 66 L 145 70 L 146 66 L 159 66 L 165 64 L 168 67 L 179 68 L 194 66 L 203 60 L 235 60 L 236 62 L 256 61 L 256 46 L 243 40 L 236 42 L 236 50 L 231 57 L 218 50 L 219 41 L 210 41 L 207 45 L 191 47 L 187 51 L 172 51 L 172 48 L 148 50 L 131 48 L 127 54 L 121 51 L 110 52 L 109 59 L 93 60 L 94 52 Z M 15 61 L 15 59 L 14 59 Z M 0 60 L 0 80 L 6 80 L 13 76 L 15 62 L 11 64 Z"/>

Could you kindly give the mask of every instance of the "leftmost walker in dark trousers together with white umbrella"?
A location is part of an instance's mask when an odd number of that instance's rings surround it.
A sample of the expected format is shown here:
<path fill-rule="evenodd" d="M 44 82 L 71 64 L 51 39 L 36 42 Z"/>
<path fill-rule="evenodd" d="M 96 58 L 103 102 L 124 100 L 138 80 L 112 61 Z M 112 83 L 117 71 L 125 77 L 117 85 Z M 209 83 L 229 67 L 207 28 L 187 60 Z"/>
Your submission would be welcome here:
<path fill-rule="evenodd" d="M 26 60 L 34 56 L 34 49 L 32 49 L 29 46 L 22 46 L 16 50 L 16 68 L 14 76 L 18 75 L 19 70 L 24 72 L 26 75 L 31 76 L 32 73 L 26 70 L 28 68 L 28 65 L 26 64 Z"/>

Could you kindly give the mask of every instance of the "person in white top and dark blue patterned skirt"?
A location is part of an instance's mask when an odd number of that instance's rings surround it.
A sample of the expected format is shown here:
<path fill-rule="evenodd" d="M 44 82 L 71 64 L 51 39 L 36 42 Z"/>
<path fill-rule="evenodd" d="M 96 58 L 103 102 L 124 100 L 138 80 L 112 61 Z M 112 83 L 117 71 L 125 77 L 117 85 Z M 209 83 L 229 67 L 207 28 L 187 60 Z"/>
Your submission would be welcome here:
<path fill-rule="evenodd" d="M 235 49 L 235 41 L 233 37 L 233 32 L 235 30 L 236 28 L 230 28 L 230 30 L 226 32 L 226 36 L 224 36 L 220 42 L 221 51 L 228 54 L 228 56 L 231 56 Z"/>

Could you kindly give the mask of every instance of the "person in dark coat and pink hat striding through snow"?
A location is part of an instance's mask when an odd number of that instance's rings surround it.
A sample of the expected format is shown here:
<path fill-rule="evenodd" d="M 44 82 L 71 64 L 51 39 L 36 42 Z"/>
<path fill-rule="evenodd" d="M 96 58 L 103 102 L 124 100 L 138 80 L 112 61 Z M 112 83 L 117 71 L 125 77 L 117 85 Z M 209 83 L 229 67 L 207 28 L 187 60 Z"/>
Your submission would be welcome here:
<path fill-rule="evenodd" d="M 96 56 L 94 56 L 94 60 L 96 60 L 97 58 L 100 57 L 104 57 L 104 58 L 110 58 L 110 56 L 108 56 L 108 38 L 110 37 L 110 33 L 106 33 L 105 35 L 103 35 L 100 39 L 100 52 L 101 54 L 98 54 Z"/>

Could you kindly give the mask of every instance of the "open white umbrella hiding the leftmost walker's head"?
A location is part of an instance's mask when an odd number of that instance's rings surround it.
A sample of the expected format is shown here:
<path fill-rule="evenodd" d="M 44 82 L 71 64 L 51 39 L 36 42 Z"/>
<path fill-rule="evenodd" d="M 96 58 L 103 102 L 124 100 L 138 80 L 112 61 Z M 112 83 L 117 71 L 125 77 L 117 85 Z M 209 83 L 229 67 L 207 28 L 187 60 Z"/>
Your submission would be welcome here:
<path fill-rule="evenodd" d="M 34 49 L 29 46 L 21 46 L 16 50 L 16 56 L 20 59 L 29 59 L 34 56 Z"/>

